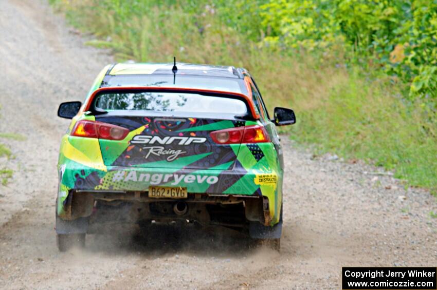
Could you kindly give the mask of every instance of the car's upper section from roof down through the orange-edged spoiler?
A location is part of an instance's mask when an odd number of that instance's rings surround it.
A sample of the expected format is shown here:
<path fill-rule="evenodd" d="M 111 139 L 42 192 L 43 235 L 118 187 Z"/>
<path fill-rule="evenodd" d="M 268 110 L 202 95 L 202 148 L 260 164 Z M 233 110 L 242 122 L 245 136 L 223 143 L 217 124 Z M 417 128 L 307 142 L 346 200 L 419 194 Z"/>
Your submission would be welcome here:
<path fill-rule="evenodd" d="M 229 94 L 244 99 L 254 109 L 248 89 L 250 74 L 244 68 L 176 63 L 119 63 L 107 65 L 97 76 L 85 100 L 88 110 L 96 94 L 107 90 L 189 91 L 209 94 Z"/>

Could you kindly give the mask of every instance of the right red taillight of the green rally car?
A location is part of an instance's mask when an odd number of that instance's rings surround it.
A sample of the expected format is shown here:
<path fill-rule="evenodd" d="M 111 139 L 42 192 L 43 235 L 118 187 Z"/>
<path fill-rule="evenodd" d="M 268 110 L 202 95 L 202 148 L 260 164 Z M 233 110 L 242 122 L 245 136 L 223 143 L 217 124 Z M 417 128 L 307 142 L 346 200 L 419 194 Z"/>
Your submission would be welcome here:
<path fill-rule="evenodd" d="M 265 128 L 257 125 L 213 131 L 210 136 L 218 144 L 270 142 Z"/>

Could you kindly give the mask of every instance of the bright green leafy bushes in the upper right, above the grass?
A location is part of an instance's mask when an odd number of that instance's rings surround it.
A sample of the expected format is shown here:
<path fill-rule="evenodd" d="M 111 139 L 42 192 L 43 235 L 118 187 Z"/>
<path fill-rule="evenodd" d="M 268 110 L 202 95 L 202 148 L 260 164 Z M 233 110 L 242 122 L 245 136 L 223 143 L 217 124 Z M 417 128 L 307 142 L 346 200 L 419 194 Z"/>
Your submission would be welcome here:
<path fill-rule="evenodd" d="M 343 41 L 361 64 L 414 79 L 412 98 L 437 102 L 437 0 L 271 0 L 262 8 L 263 29 L 272 31 L 266 43 L 314 50 Z"/>

